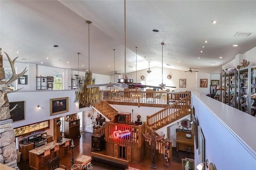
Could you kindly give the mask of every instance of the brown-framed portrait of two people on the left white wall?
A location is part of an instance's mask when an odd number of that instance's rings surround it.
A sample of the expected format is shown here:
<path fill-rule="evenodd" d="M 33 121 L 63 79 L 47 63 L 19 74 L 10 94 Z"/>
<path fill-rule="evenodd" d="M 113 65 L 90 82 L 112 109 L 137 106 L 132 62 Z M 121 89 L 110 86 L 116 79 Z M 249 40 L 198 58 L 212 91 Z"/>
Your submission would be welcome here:
<path fill-rule="evenodd" d="M 68 112 L 68 97 L 50 99 L 50 115 Z"/>

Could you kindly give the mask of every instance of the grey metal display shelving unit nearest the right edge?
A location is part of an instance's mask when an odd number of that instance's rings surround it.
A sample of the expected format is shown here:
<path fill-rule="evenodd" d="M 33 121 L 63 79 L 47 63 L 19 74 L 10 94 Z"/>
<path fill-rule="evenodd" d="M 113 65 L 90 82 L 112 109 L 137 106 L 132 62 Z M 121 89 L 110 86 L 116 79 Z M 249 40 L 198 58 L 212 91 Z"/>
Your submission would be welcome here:
<path fill-rule="evenodd" d="M 256 114 L 256 66 L 248 66 L 238 70 L 238 109 L 250 115 Z M 252 74 L 253 72 L 253 74 Z"/>

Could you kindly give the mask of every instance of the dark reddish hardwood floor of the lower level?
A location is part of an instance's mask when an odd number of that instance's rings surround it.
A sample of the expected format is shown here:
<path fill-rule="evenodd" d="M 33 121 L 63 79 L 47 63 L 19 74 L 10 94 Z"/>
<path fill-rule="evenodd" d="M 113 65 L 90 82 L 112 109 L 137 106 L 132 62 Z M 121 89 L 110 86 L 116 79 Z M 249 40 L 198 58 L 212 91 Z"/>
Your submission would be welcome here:
<path fill-rule="evenodd" d="M 85 154 L 90 156 L 91 155 L 91 135 L 92 133 L 84 133 L 81 135 L 81 137 L 74 139 L 74 159 L 80 156 L 81 154 Z M 93 150 L 94 152 L 97 152 L 97 150 Z M 104 152 L 101 151 L 101 152 Z M 72 156 L 72 149 L 70 149 L 70 152 L 68 154 L 65 154 L 64 156 L 60 156 L 60 164 L 67 166 L 67 170 L 70 170 L 70 158 Z M 164 161 L 159 158 L 156 160 L 157 169 L 158 170 L 181 170 L 181 158 L 192 158 L 194 159 L 194 154 L 186 153 L 184 151 L 176 152 L 176 148 L 172 148 L 172 162 L 170 162 L 169 167 L 164 166 Z M 140 170 L 152 170 L 150 168 L 151 159 L 150 156 L 146 156 L 146 158 L 140 163 L 137 164 L 135 162 L 129 162 L 129 166 L 140 169 Z M 30 170 L 29 162 L 19 162 L 18 167 L 20 170 Z M 90 169 L 90 167 L 88 167 Z M 44 170 L 48 170 L 48 166 L 44 167 Z M 97 168 L 93 168 L 92 170 L 98 170 Z M 101 168 L 102 170 L 102 168 Z M 104 167 L 103 170 L 113 170 L 112 167 Z"/>

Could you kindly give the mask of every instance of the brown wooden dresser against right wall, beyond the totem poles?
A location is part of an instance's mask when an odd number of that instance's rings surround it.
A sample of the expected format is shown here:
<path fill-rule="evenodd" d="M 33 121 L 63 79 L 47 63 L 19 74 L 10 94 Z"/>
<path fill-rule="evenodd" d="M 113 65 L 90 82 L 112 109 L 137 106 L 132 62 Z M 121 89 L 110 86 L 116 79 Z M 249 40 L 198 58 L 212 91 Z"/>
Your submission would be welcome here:
<path fill-rule="evenodd" d="M 194 153 L 194 135 L 190 130 L 176 129 L 176 151 L 186 151 L 186 147 Z"/>

